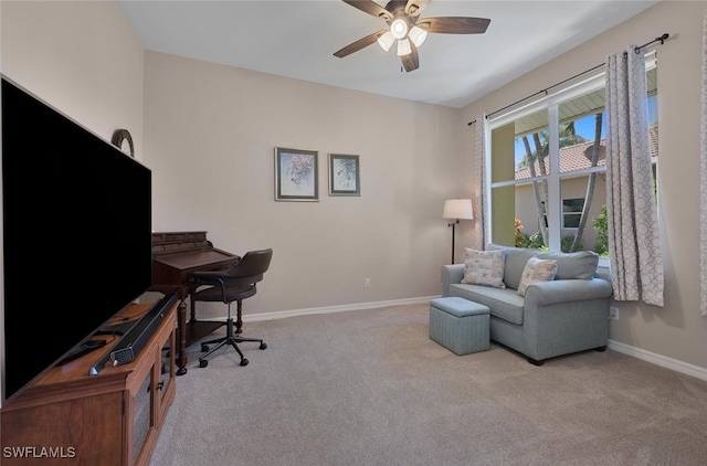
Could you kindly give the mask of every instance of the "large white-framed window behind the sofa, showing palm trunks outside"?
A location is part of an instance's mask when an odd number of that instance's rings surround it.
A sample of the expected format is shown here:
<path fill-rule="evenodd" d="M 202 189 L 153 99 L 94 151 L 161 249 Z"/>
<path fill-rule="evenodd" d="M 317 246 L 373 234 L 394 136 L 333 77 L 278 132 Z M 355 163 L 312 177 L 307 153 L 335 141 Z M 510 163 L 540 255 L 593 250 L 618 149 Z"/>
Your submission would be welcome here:
<path fill-rule="evenodd" d="M 655 163 L 654 62 L 646 62 L 646 98 Z M 608 257 L 603 73 L 493 118 L 489 127 L 492 242 Z"/>

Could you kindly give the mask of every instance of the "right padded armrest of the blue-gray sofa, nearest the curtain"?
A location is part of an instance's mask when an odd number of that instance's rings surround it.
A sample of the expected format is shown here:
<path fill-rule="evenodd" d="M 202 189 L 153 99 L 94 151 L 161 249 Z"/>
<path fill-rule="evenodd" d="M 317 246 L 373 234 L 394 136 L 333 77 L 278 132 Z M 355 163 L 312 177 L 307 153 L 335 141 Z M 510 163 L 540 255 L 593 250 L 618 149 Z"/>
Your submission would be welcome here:
<path fill-rule="evenodd" d="M 541 282 L 526 289 L 525 307 L 537 308 L 558 303 L 605 299 L 611 295 L 611 284 L 602 278 Z"/>

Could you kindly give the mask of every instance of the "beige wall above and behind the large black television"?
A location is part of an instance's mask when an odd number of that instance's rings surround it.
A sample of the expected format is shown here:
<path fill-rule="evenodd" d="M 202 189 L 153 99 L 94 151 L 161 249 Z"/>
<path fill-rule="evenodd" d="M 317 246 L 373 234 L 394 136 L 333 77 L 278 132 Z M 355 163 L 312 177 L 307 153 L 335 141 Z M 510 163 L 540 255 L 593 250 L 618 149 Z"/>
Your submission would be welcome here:
<path fill-rule="evenodd" d="M 3 0 L 0 19 L 2 74 L 106 140 L 115 129 L 127 128 L 140 157 L 144 51 L 118 3 Z M 48 225 L 50 231 L 55 226 L 66 225 Z M 43 246 L 59 245 L 27 245 Z M 74 298 L 55 296 L 44 305 L 57 306 L 56 318 L 64 318 L 62 306 Z"/>

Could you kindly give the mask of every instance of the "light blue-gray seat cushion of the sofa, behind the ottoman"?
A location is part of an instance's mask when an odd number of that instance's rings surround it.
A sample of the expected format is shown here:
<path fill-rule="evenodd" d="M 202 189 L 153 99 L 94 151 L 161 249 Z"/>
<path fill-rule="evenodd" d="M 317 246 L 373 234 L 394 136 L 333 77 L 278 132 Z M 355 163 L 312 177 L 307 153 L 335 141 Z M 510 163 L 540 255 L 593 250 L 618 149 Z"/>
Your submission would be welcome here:
<path fill-rule="evenodd" d="M 450 285 L 449 293 L 450 296 L 487 306 L 494 317 L 523 325 L 524 297 L 516 294 L 515 289 L 457 283 Z"/>

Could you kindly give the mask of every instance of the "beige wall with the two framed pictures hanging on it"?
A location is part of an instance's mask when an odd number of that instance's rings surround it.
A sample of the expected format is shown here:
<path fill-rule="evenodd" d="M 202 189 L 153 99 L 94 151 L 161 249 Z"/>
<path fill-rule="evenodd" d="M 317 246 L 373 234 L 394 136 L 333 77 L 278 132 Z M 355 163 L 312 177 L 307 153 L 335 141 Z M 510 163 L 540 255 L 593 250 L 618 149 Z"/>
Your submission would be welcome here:
<path fill-rule="evenodd" d="M 455 188 L 471 177 L 460 110 L 155 52 L 145 63 L 154 226 L 205 230 L 239 254 L 273 247 L 245 314 L 441 293 L 442 206 L 471 194 Z M 319 202 L 274 200 L 275 147 L 319 152 Z M 360 156 L 360 197 L 328 195 L 329 152 Z"/>

